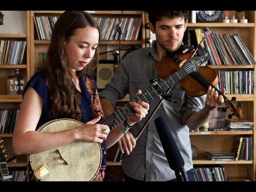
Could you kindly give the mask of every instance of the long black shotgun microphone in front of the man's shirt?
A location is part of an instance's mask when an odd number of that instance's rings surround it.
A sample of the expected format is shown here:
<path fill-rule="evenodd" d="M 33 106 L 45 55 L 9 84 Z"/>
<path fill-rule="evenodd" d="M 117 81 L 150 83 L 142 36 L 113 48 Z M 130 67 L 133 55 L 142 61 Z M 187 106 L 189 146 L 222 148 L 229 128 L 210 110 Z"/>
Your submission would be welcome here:
<path fill-rule="evenodd" d="M 184 169 L 184 159 L 180 154 L 165 118 L 157 117 L 155 119 L 155 125 L 169 166 L 175 172 L 177 180 L 188 181 L 188 176 Z"/>

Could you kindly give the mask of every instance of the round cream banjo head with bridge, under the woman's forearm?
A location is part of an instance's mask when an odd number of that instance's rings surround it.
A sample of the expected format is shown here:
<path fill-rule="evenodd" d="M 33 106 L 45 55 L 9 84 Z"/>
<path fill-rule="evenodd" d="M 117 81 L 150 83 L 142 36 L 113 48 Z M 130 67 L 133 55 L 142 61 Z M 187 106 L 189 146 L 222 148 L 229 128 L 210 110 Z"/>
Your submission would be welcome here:
<path fill-rule="evenodd" d="M 59 132 L 83 125 L 74 119 L 54 119 L 39 127 L 39 132 Z M 67 145 L 29 155 L 33 180 L 91 181 L 102 161 L 99 143 L 71 142 Z"/>

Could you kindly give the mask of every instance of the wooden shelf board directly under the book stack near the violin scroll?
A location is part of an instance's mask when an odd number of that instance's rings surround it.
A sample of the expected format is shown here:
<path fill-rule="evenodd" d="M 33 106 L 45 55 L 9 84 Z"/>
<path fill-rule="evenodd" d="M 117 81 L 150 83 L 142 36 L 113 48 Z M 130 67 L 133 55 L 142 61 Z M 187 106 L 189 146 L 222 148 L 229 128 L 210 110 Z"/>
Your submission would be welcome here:
<path fill-rule="evenodd" d="M 196 131 L 189 135 L 253 135 L 253 131 Z"/>

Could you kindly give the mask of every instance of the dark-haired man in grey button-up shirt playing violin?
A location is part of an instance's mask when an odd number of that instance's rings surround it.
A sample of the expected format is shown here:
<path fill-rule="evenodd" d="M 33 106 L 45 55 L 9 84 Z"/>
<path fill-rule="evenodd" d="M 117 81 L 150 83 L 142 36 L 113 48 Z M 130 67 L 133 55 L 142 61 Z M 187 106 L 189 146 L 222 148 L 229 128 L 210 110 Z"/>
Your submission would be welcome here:
<path fill-rule="evenodd" d="M 105 114 L 114 111 L 118 99 L 130 94 L 130 100 L 136 96 L 138 89 L 145 91 L 152 84 L 149 79 L 159 79 L 156 65 L 166 52 L 181 49 L 182 38 L 187 28 L 189 11 L 150 10 L 149 29 L 156 35 L 151 47 L 135 50 L 126 55 L 116 69 L 111 83 L 101 92 L 101 104 Z M 171 74 L 170 74 L 171 75 Z M 224 94 L 225 89 L 221 92 Z M 169 94 L 173 100 L 163 100 L 155 111 L 155 118 L 164 117 L 185 161 L 185 170 L 189 181 L 195 181 L 189 130 L 195 130 L 206 123 L 218 106 L 224 102 L 223 96 L 211 86 L 207 95 L 190 97 L 182 89 L 180 82 L 175 83 Z M 175 181 L 176 176 L 167 162 L 154 121 L 149 121 L 138 140 L 139 133 L 147 118 L 154 112 L 162 97 L 149 102 L 150 110 L 146 118 L 132 126 L 118 141 L 120 150 L 127 155 L 122 160 L 125 181 Z M 174 157 L 175 158 L 175 157 Z"/>

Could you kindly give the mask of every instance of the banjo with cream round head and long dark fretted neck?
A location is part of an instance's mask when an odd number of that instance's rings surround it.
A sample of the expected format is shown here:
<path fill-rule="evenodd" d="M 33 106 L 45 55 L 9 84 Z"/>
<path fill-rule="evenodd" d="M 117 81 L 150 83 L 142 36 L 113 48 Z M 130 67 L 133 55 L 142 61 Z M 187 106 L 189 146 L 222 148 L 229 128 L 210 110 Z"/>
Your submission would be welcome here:
<path fill-rule="evenodd" d="M 161 83 L 154 82 L 149 89 L 143 91 L 132 101 L 148 102 L 156 98 L 187 74 L 196 72 L 197 69 L 209 60 L 209 53 L 206 51 L 201 56 L 189 58 L 183 63 L 182 68 Z M 108 125 L 113 129 L 122 123 L 134 112 L 130 103 L 126 103 L 114 113 L 107 116 L 99 124 Z M 43 124 L 39 132 L 59 132 L 69 129 L 76 129 L 83 123 L 74 119 L 62 118 L 53 119 Z M 29 175 L 35 181 L 91 181 L 100 169 L 102 162 L 102 147 L 99 143 L 71 142 L 67 145 L 46 150 L 41 153 L 29 155 Z"/>

